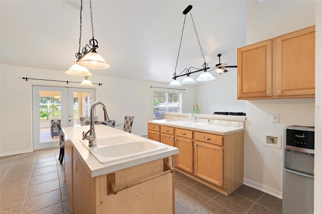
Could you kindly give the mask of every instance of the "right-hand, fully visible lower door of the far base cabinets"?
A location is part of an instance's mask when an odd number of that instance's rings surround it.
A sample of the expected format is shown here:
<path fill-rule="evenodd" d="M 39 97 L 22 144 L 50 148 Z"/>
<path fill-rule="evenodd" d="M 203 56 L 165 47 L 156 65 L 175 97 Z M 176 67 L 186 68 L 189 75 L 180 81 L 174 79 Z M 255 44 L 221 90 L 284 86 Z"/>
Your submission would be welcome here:
<path fill-rule="evenodd" d="M 195 175 L 223 187 L 223 148 L 196 141 L 194 158 Z"/>

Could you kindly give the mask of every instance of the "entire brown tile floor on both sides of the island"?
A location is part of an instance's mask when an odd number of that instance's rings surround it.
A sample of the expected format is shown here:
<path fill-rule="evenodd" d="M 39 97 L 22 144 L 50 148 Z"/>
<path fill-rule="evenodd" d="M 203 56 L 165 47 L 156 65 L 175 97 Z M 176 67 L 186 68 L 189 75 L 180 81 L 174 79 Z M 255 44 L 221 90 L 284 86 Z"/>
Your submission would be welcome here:
<path fill-rule="evenodd" d="M 0 158 L 0 213 L 71 213 L 59 148 Z M 282 213 L 282 200 L 243 185 L 229 196 L 176 172 L 176 213 Z"/>

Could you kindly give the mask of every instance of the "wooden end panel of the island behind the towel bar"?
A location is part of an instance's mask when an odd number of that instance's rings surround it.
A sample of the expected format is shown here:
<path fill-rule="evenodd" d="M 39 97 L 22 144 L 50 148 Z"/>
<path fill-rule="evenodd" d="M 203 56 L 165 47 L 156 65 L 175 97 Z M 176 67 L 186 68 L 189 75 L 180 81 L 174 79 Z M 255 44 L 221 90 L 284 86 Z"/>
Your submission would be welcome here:
<path fill-rule="evenodd" d="M 127 186 L 164 171 L 164 159 L 115 172 L 116 188 Z M 169 157 L 173 167 L 173 156 Z M 100 176 L 101 213 L 175 213 L 174 173 L 145 181 L 107 195 L 107 175 Z"/>

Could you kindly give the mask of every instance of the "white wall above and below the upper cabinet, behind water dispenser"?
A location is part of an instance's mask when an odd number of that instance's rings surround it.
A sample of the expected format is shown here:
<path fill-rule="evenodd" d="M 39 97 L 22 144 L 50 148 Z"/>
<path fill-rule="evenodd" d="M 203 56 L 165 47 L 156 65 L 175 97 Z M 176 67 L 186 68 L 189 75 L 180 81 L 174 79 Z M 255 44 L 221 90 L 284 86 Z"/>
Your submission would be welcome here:
<path fill-rule="evenodd" d="M 315 24 L 314 1 L 247 2 L 247 45 Z M 314 126 L 314 98 L 246 101 L 245 183 L 282 196 L 282 149 L 263 145 L 263 134 L 288 125 Z M 279 123 L 271 114 L 280 115 Z"/>

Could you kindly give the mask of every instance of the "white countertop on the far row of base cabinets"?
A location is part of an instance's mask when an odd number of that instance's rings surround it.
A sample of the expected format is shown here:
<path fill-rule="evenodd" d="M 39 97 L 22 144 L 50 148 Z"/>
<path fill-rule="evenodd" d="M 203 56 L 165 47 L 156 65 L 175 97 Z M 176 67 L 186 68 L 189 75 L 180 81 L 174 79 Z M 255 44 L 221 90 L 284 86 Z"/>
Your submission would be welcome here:
<path fill-rule="evenodd" d="M 197 131 L 197 132 L 206 132 L 206 133 L 211 133 L 211 134 L 215 134 L 215 135 L 229 135 L 232 133 L 244 131 L 244 128 L 218 126 L 218 125 L 213 125 L 213 124 L 206 125 L 206 126 L 200 126 L 200 127 L 186 127 L 186 126 L 168 124 L 166 122 L 168 122 L 168 121 L 166 121 L 166 120 L 148 121 L 148 123 L 151 123 L 151 124 L 193 130 L 193 131 Z"/>

